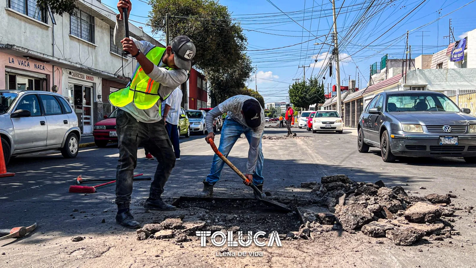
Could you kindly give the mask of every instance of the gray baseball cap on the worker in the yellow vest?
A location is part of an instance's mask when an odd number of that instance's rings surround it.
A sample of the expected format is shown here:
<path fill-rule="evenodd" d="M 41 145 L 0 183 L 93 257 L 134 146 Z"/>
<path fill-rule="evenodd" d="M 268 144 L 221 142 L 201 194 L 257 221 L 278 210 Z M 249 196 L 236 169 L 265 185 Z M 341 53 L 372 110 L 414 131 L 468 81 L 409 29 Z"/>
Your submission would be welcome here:
<path fill-rule="evenodd" d="M 192 68 L 192 59 L 197 53 L 195 44 L 186 35 L 179 35 L 171 43 L 174 53 L 175 65 L 179 69 L 190 71 Z"/>

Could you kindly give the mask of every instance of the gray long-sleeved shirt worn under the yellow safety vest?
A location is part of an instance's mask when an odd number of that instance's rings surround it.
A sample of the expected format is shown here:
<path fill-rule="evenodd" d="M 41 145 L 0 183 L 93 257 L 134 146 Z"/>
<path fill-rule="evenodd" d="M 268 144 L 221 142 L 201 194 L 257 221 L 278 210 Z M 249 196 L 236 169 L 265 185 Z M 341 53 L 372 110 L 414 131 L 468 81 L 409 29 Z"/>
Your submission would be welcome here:
<path fill-rule="evenodd" d="M 114 44 L 118 47 L 122 47 L 121 40 L 124 38 L 124 22 L 116 17 L 116 27 L 114 28 Z M 130 38 L 134 41 L 137 48 L 144 54 L 147 54 L 155 46 L 148 41 L 138 41 L 134 38 Z M 159 66 L 154 66 L 154 70 L 148 74 L 155 82 L 159 82 L 159 95 L 163 98 L 168 96 L 173 90 L 175 90 L 180 84 L 187 81 L 187 72 L 185 70 L 167 70 L 165 64 L 160 61 Z M 136 69 L 139 68 L 137 63 Z M 133 74 L 136 72 L 134 70 Z M 133 77 L 132 77 L 133 78 Z M 131 80 L 132 80 L 131 78 Z M 137 121 L 144 123 L 155 123 L 162 120 L 161 113 L 159 111 L 161 101 L 159 100 L 154 106 L 147 110 L 141 110 L 129 103 L 119 109 L 130 113 Z M 165 105 L 165 104 L 163 104 Z"/>

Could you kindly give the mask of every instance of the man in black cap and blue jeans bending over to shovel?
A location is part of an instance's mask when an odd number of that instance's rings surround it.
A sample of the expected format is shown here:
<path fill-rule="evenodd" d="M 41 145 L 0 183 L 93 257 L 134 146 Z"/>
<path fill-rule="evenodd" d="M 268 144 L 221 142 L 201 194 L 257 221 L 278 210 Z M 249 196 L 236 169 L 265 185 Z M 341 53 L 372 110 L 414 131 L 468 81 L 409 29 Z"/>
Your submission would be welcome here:
<path fill-rule="evenodd" d="M 223 113 L 227 113 L 227 117 L 223 122 L 218 150 L 223 155 L 228 156 L 241 134 L 245 134 L 249 143 L 245 174 L 247 182 L 245 184 L 249 186 L 253 183 L 263 192 L 264 158 L 261 149 L 261 137 L 265 129 L 265 112 L 261 104 L 255 98 L 245 95 L 236 95 L 218 104 L 205 117 L 205 125 L 209 130 L 207 137 L 205 137 L 207 143 L 209 143 L 208 139 L 215 139 L 213 119 Z M 224 164 L 218 155 L 213 156 L 210 174 L 203 180 L 203 191 L 200 193 L 200 197 L 209 197 L 213 194 L 213 186 L 220 179 Z"/>

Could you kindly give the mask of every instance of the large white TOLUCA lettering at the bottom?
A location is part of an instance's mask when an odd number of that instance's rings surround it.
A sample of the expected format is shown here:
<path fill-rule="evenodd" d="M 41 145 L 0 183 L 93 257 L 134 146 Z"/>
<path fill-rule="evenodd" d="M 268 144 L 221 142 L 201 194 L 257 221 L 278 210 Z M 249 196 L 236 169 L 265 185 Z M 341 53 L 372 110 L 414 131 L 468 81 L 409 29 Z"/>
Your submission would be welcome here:
<path fill-rule="evenodd" d="M 253 232 L 248 231 L 246 235 L 243 235 L 243 232 L 238 232 L 238 242 L 233 240 L 233 231 L 228 231 L 228 238 L 223 232 L 215 232 L 211 233 L 211 231 L 197 231 L 196 235 L 200 237 L 200 246 L 206 247 L 207 237 L 210 237 L 211 243 L 213 246 L 221 247 L 228 242 L 228 247 L 238 247 L 238 244 L 242 247 L 248 247 L 251 245 L 251 242 L 254 242 L 258 247 L 264 247 L 267 244 L 265 242 L 260 242 L 258 240 L 259 237 L 263 237 L 266 235 L 265 232 L 259 231 L 253 235 Z M 218 237 L 221 239 L 218 241 Z M 279 235 L 277 231 L 272 231 L 271 235 L 269 236 L 268 240 L 268 247 L 272 247 L 276 243 L 276 246 L 282 247 L 281 240 L 279 239 Z"/>

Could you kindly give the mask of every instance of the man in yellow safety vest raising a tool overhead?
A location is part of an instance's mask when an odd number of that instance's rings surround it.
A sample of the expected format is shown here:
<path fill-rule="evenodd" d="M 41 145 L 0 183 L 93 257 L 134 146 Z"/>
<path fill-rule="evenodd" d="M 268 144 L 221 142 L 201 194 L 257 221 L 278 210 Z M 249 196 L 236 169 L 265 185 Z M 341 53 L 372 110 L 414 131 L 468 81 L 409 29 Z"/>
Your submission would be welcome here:
<path fill-rule="evenodd" d="M 156 47 L 148 41 L 123 38 L 128 29 L 127 14 L 132 6 L 130 0 L 120 0 L 117 7 L 119 14 L 114 28 L 114 43 L 129 52 L 138 64 L 128 86 L 109 95 L 109 102 L 119 107 L 116 116 L 119 143 L 116 223 L 137 228 L 140 223 L 130 214 L 129 205 L 134 168 L 137 165 L 137 147 L 140 144 L 147 144 L 149 152 L 159 162 L 144 207 L 162 211 L 176 209 L 160 197 L 175 165 L 174 150 L 165 129 L 161 105 L 175 88 L 187 81 L 187 71 L 190 71 L 196 49 L 193 42 L 183 35 L 176 37 L 167 48 Z"/>

